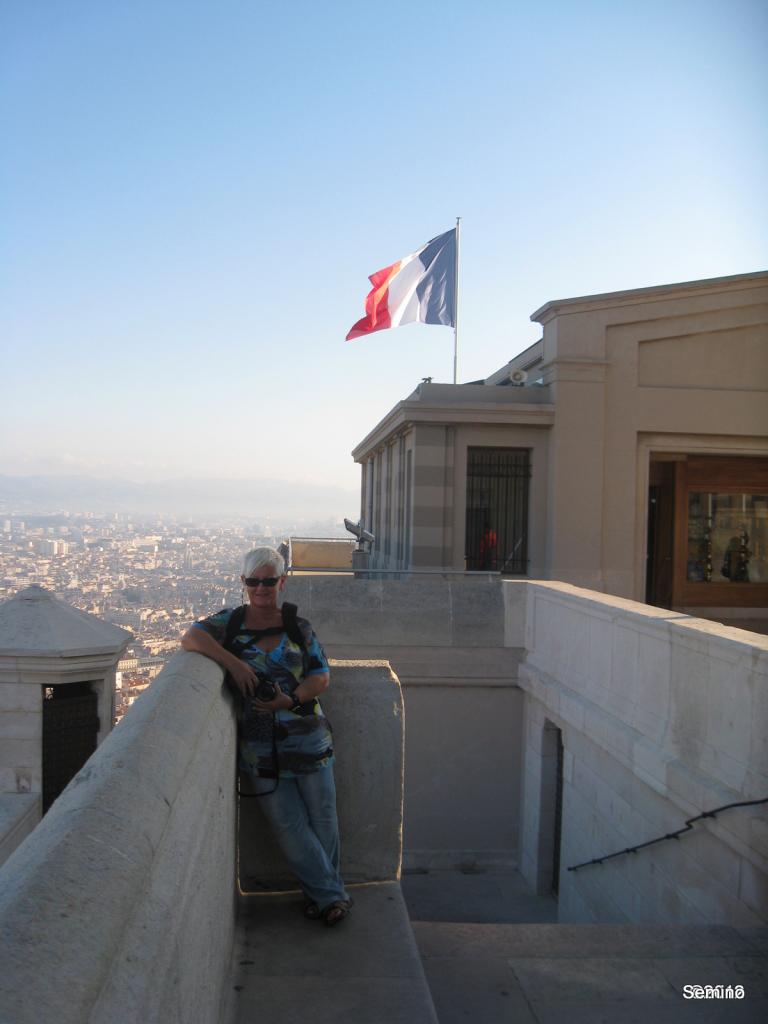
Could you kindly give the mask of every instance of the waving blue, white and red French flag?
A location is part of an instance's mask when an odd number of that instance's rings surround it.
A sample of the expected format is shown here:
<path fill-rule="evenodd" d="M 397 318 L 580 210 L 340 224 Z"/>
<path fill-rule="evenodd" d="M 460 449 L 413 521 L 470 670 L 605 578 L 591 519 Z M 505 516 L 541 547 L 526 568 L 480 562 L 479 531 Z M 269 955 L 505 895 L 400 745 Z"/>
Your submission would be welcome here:
<path fill-rule="evenodd" d="M 401 324 L 456 327 L 456 231 L 438 234 L 418 252 L 372 273 L 366 315 L 346 340 Z"/>

